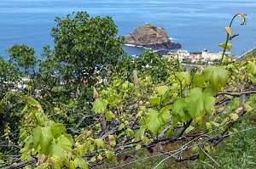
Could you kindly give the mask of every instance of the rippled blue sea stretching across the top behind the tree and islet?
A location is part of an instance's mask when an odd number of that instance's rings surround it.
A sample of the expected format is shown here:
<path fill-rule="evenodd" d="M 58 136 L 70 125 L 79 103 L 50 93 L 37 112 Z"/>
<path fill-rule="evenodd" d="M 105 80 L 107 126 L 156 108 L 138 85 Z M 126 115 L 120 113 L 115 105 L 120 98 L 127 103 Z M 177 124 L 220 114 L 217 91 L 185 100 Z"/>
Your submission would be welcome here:
<path fill-rule="evenodd" d="M 224 27 L 236 13 L 248 16 L 247 25 L 235 20 L 234 33 L 240 36 L 231 41 L 231 54 L 240 55 L 256 46 L 255 0 L 1 0 L 0 1 L 0 55 L 15 43 L 25 43 L 43 52 L 44 45 L 54 46 L 50 30 L 55 16 L 66 16 L 73 11 L 87 11 L 90 16 L 113 17 L 119 35 L 127 35 L 138 25 L 151 23 L 166 29 L 174 42 L 189 52 L 208 49 L 219 52 L 224 42 Z M 125 47 L 128 54 L 140 54 L 142 48 Z"/>

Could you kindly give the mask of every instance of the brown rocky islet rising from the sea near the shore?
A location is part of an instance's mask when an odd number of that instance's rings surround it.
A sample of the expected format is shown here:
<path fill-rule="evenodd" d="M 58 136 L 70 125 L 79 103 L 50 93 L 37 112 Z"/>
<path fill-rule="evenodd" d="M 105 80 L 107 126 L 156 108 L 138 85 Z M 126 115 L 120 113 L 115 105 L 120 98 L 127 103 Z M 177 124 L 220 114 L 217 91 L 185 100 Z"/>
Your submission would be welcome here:
<path fill-rule="evenodd" d="M 129 44 L 147 48 L 181 48 L 181 44 L 172 42 L 165 29 L 151 24 L 138 26 L 132 33 L 125 36 Z"/>

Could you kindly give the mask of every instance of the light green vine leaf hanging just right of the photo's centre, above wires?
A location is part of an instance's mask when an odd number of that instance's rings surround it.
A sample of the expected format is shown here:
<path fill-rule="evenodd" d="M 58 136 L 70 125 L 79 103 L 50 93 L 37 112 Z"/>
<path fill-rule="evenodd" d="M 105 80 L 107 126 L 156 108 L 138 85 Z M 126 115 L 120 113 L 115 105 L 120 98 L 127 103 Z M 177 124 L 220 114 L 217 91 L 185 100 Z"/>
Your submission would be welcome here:
<path fill-rule="evenodd" d="M 160 127 L 161 123 L 158 119 L 158 111 L 153 110 L 153 109 L 148 109 L 148 114 L 146 115 L 145 121 L 146 121 L 146 126 L 148 127 L 148 130 L 156 134 Z"/>

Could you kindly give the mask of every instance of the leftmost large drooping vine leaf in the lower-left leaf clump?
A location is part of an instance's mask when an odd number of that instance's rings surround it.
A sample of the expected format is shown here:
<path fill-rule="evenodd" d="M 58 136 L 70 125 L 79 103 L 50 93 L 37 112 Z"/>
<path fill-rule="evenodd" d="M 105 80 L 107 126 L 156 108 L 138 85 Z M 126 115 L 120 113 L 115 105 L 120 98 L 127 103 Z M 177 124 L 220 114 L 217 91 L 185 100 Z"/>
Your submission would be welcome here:
<path fill-rule="evenodd" d="M 40 145 L 42 154 L 48 149 L 53 138 L 51 127 L 36 127 L 32 132 L 32 143 L 36 149 Z"/>

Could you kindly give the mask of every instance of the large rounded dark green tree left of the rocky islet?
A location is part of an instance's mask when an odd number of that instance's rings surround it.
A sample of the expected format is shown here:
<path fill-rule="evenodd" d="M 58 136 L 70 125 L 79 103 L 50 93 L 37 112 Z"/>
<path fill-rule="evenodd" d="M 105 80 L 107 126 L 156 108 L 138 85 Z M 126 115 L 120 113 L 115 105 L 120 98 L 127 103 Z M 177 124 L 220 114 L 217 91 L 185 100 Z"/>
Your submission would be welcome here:
<path fill-rule="evenodd" d="M 96 72 L 116 65 L 124 54 L 124 37 L 117 37 L 117 26 L 110 16 L 90 18 L 86 12 L 56 17 L 51 35 L 55 40 L 54 59 L 62 63 L 61 74 L 67 81 L 89 82 Z"/>

